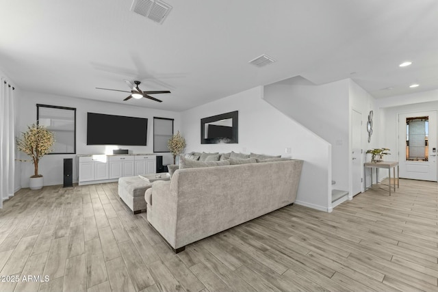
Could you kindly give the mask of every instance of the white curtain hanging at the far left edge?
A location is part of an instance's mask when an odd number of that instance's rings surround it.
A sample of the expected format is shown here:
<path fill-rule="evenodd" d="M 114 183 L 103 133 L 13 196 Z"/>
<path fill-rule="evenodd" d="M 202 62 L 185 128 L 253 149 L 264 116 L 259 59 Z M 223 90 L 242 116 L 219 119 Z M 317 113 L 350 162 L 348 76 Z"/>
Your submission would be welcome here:
<path fill-rule="evenodd" d="M 0 92 L 0 208 L 14 196 L 14 96 L 12 85 L 1 79 Z"/>

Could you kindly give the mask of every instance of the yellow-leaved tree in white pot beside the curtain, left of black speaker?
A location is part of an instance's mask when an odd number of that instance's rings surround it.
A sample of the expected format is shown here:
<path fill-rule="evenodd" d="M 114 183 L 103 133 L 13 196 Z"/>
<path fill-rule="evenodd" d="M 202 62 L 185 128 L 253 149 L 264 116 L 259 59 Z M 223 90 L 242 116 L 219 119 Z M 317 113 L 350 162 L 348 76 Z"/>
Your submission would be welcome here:
<path fill-rule="evenodd" d="M 46 129 L 44 126 L 40 126 L 38 123 L 31 124 L 27 127 L 27 131 L 21 133 L 21 138 L 16 138 L 16 144 L 18 150 L 25 152 L 31 157 L 30 160 L 34 163 L 34 175 L 30 177 L 29 187 L 30 189 L 41 189 L 44 185 L 42 175 L 38 173 L 38 163 L 40 159 L 51 152 L 51 147 L 55 143 L 53 132 Z"/>

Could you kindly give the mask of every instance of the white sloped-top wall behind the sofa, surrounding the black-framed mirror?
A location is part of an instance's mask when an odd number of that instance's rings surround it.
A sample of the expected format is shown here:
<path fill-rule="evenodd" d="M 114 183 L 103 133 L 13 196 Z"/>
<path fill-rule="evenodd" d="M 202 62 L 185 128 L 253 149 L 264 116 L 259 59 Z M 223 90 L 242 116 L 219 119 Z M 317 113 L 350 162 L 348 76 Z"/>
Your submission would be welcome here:
<path fill-rule="evenodd" d="M 239 111 L 238 144 L 201 144 L 201 118 L 236 110 Z M 185 152 L 256 152 L 287 157 L 290 155 L 285 154 L 285 148 L 292 148 L 292 158 L 305 161 L 296 203 L 331 211 L 330 144 L 264 101 L 263 87 L 183 111 L 181 118 L 181 133 L 187 144 Z"/>

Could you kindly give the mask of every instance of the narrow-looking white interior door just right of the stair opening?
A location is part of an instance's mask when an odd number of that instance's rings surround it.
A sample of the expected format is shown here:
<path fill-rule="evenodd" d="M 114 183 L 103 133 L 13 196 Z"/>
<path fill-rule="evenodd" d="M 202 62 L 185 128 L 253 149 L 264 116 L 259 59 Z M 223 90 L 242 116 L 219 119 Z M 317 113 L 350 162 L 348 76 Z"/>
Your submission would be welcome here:
<path fill-rule="evenodd" d="M 352 195 L 355 196 L 362 191 L 362 114 L 358 111 L 352 111 L 352 127 L 351 127 L 351 139 L 352 139 Z"/>

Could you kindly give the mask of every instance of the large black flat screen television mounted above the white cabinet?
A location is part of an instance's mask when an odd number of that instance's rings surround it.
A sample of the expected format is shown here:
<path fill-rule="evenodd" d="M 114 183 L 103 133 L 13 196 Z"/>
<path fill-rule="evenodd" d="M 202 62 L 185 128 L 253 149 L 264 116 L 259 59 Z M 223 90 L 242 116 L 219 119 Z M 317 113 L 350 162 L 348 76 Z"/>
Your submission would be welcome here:
<path fill-rule="evenodd" d="M 146 146 L 148 119 L 87 113 L 87 145 Z"/>

